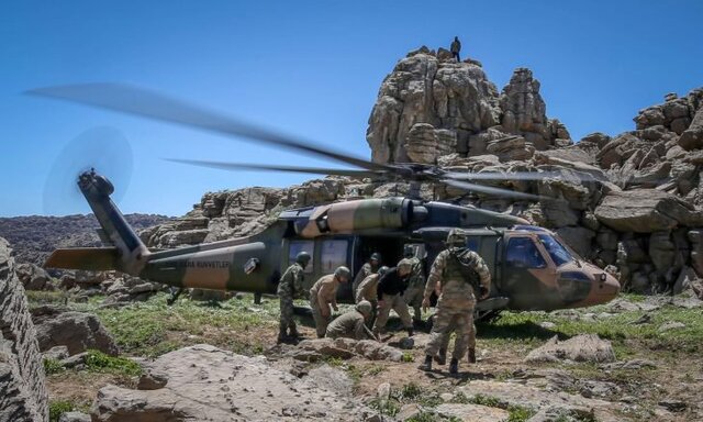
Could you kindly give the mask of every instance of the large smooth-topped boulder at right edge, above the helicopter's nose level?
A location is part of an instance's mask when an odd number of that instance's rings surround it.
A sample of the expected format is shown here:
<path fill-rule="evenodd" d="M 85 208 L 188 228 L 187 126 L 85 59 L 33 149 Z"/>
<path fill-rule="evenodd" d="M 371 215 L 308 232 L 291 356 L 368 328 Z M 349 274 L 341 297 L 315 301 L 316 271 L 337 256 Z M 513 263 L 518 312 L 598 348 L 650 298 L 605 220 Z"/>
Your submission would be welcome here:
<path fill-rule="evenodd" d="M 595 209 L 595 216 L 620 232 L 651 233 L 677 225 L 703 225 L 701 211 L 657 189 L 610 192 Z"/>

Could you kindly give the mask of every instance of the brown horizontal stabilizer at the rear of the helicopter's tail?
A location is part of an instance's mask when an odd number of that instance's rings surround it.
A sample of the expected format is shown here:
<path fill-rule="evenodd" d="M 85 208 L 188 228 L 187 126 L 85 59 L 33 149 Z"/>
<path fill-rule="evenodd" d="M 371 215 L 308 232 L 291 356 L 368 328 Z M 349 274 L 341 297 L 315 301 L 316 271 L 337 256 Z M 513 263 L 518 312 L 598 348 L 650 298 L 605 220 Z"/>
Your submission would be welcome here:
<path fill-rule="evenodd" d="M 116 247 L 77 247 L 54 251 L 44 267 L 101 271 L 116 269 L 119 259 Z"/>

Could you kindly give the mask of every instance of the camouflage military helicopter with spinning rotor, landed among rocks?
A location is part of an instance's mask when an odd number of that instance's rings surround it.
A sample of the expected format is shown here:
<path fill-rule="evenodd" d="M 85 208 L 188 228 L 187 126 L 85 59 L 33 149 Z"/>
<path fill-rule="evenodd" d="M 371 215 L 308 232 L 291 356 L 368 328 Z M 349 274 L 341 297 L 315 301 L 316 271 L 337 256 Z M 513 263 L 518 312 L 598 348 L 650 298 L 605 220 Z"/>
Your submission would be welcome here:
<path fill-rule="evenodd" d="M 179 123 L 246 137 L 259 143 L 341 162 L 356 169 L 252 165 L 176 159 L 228 170 L 294 171 L 338 175 L 377 180 L 410 181 L 410 197 L 347 200 L 287 210 L 264 231 L 250 236 L 167 251 L 149 251 L 110 199 L 113 186 L 96 170 L 83 171 L 77 184 L 96 214 L 104 247 L 55 251 L 45 266 L 65 269 L 116 269 L 176 287 L 275 293 L 281 271 L 305 251 L 313 257 L 305 268 L 311 286 L 319 277 L 346 265 L 355 275 L 364 260 L 379 252 L 393 265 L 403 246 L 412 244 L 428 269 L 445 247 L 447 233 L 466 231 L 467 246 L 478 252 L 490 268 L 492 287 L 478 303 L 483 313 L 510 310 L 556 310 L 589 307 L 613 299 L 617 280 L 587 263 L 555 233 L 518 216 L 470 206 L 425 201 L 412 192 L 420 182 L 450 186 L 470 192 L 537 200 L 538 197 L 481 181 L 539 180 L 548 173 L 466 174 L 415 163 L 380 164 L 279 135 L 182 101 L 123 85 L 77 85 L 42 88 L 32 95 Z M 347 284 L 339 301 L 352 301 Z"/>

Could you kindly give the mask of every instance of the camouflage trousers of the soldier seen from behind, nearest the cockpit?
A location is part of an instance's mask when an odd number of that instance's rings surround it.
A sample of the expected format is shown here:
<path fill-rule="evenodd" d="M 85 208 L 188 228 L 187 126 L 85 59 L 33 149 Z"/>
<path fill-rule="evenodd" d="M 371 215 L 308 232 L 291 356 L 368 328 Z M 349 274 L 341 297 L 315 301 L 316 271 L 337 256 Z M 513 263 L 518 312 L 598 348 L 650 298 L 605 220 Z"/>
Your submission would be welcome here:
<path fill-rule="evenodd" d="M 451 358 L 461 359 L 469 347 L 476 346 L 476 330 L 473 326 L 473 309 L 437 307 L 429 342 L 425 347 L 425 354 L 437 356 L 439 349 L 446 349 L 449 345 L 449 336 L 456 333 Z"/>

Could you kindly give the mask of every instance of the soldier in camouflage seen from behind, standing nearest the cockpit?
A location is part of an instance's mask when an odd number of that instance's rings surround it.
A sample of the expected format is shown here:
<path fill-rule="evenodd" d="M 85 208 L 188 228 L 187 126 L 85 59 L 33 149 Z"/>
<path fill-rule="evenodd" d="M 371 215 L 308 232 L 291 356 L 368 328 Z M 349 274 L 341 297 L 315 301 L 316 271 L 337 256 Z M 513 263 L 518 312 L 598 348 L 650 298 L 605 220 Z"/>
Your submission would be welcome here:
<path fill-rule="evenodd" d="M 432 370 L 432 359 L 443 346 L 449 327 L 457 333 L 451 354 L 449 373 L 457 374 L 459 358 L 467 351 L 473 326 L 475 286 L 480 286 L 481 299 L 488 297 L 491 287 L 491 274 L 483 258 L 466 247 L 466 234 L 453 229 L 447 235 L 447 248 L 442 251 L 429 270 L 423 298 L 423 309 L 429 307 L 429 297 L 437 281 L 442 281 L 442 292 L 437 301 L 436 314 L 429 342 L 425 347 L 423 370 Z M 469 351 L 469 360 L 475 357 L 475 349 Z"/>

